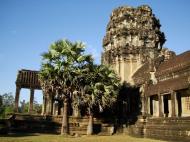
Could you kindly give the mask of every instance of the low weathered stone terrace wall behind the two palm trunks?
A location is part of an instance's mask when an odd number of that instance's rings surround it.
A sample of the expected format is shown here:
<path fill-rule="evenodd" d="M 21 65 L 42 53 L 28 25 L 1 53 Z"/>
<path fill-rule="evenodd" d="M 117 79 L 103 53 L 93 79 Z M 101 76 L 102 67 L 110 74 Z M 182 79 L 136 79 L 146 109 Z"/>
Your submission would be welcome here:
<path fill-rule="evenodd" d="M 69 117 L 70 135 L 86 135 L 88 121 L 88 117 Z M 60 134 L 62 116 L 13 114 L 9 122 L 11 124 L 9 132 L 13 133 L 28 132 Z M 113 124 L 103 123 L 102 120 L 94 118 L 94 134 L 113 134 Z"/>

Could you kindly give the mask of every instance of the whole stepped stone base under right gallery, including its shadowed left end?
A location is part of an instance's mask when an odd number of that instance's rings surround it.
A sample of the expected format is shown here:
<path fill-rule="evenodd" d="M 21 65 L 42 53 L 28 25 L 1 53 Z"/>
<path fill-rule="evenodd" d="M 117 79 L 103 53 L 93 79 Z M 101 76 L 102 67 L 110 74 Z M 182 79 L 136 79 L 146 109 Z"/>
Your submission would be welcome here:
<path fill-rule="evenodd" d="M 190 141 L 190 117 L 139 118 L 135 124 L 123 129 L 135 137 L 153 138 L 176 142 Z"/>

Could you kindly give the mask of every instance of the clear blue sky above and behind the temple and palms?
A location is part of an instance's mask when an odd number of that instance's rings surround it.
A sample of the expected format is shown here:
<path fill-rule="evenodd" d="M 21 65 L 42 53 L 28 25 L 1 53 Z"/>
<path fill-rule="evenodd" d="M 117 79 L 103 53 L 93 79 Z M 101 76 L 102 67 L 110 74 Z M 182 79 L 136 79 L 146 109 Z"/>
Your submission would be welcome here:
<path fill-rule="evenodd" d="M 15 95 L 18 70 L 39 70 L 41 54 L 59 39 L 83 41 L 100 63 L 112 10 L 142 4 L 160 19 L 164 47 L 177 54 L 190 49 L 189 0 L 0 0 L 0 94 Z M 23 99 L 29 100 L 29 90 L 21 90 Z M 41 91 L 35 99 L 42 103 Z"/>

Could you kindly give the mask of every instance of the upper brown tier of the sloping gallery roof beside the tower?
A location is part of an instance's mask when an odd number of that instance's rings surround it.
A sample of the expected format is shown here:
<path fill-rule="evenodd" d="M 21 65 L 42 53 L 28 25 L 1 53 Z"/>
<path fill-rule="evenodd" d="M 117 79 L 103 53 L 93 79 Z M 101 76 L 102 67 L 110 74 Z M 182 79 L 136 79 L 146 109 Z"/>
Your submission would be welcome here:
<path fill-rule="evenodd" d="M 168 61 L 162 61 L 161 58 L 156 58 L 153 62 L 145 63 L 141 66 L 133 75 L 135 85 L 141 85 L 150 79 L 150 71 L 153 68 L 156 69 L 156 78 L 160 76 L 166 76 L 168 74 L 184 70 L 190 67 L 190 51 L 184 52 L 178 56 L 175 56 Z"/>

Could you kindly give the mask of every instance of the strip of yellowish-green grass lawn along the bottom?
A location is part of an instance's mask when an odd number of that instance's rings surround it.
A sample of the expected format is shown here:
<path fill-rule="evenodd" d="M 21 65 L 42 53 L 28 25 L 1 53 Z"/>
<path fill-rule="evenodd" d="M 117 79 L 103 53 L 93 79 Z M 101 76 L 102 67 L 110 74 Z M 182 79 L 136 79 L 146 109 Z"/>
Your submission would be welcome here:
<path fill-rule="evenodd" d="M 60 136 L 49 134 L 16 134 L 0 136 L 0 142 L 164 142 L 147 138 L 134 138 L 127 135 L 113 136 Z"/>

